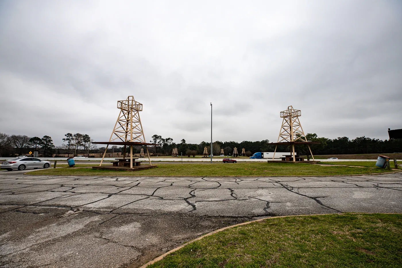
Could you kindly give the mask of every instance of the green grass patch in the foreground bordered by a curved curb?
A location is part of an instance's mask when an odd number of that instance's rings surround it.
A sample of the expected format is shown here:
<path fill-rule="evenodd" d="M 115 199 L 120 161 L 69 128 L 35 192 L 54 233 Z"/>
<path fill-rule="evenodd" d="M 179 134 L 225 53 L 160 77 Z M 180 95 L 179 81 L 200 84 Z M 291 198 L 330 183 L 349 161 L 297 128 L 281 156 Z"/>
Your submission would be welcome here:
<path fill-rule="evenodd" d="M 267 219 L 190 243 L 149 268 L 402 267 L 401 214 Z"/>

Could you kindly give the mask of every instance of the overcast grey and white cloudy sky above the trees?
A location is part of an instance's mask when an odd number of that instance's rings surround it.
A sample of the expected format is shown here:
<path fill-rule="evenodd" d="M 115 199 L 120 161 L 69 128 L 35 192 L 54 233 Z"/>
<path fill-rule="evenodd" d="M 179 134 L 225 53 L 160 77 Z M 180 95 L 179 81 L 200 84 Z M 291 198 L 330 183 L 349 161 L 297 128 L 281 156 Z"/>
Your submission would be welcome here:
<path fill-rule="evenodd" d="M 402 128 L 402 1 L 0 0 L 0 132 L 107 141 L 133 95 L 146 140 L 388 139 Z"/>

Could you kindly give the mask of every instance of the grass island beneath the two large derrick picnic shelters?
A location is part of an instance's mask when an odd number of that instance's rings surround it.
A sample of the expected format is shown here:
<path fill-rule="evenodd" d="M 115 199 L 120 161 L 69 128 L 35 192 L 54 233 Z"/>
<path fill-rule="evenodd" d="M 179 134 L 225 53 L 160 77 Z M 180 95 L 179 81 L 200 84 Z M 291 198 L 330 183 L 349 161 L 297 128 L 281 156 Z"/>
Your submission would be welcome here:
<path fill-rule="evenodd" d="M 108 171 L 92 170 L 89 168 L 62 168 L 40 169 L 29 172 L 30 175 L 183 175 L 183 176 L 271 176 L 271 175 L 348 175 L 383 173 L 386 169 L 344 167 L 344 166 L 320 166 L 304 163 L 201 163 L 201 164 L 156 164 L 155 169 L 142 171 Z"/>

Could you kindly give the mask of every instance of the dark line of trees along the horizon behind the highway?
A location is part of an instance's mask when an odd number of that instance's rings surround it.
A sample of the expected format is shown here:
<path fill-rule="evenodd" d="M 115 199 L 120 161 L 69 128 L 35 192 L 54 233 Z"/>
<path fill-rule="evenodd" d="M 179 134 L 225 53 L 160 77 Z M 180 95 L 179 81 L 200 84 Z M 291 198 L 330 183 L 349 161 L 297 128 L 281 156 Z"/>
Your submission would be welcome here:
<path fill-rule="evenodd" d="M 89 156 L 90 153 L 104 153 L 105 147 L 97 148 L 94 141 L 87 134 L 72 134 L 67 133 L 62 139 L 61 146 L 54 146 L 50 136 L 28 137 L 26 135 L 7 135 L 0 132 L 0 156 L 8 157 L 15 154 L 21 155 L 29 150 L 39 151 L 43 157 L 51 157 L 53 153 L 67 154 L 68 156 L 77 156 L 84 154 Z M 365 136 L 349 139 L 348 137 L 338 137 L 329 139 L 318 137 L 315 133 L 308 133 L 306 138 L 310 142 L 319 142 L 319 144 L 311 144 L 310 148 L 314 155 L 347 155 L 347 154 L 377 154 L 377 153 L 399 153 L 402 152 L 402 139 L 394 140 L 379 140 L 368 138 Z M 211 153 L 210 142 L 202 141 L 199 144 L 187 143 L 185 139 L 179 143 L 173 141 L 172 138 L 162 138 L 160 135 L 153 135 L 151 143 L 158 146 L 148 146 L 150 155 L 171 155 L 173 148 L 177 148 L 178 155 L 202 155 L 204 148 L 207 147 L 208 154 Z M 133 153 L 139 153 L 141 147 L 133 146 Z M 213 142 L 213 155 L 220 155 L 221 149 L 224 150 L 224 155 L 232 155 L 234 147 L 238 148 L 238 153 L 241 153 L 242 148 L 245 148 L 246 155 L 250 156 L 256 152 L 273 152 L 275 146 L 269 144 L 269 140 L 261 141 L 215 141 Z M 56 152 L 55 152 L 56 151 Z M 278 146 L 278 152 L 290 152 L 289 146 Z M 306 145 L 296 146 L 296 151 L 299 155 L 310 156 L 310 150 Z M 111 146 L 107 153 L 122 152 L 122 147 Z M 128 153 L 128 150 L 127 150 Z"/>

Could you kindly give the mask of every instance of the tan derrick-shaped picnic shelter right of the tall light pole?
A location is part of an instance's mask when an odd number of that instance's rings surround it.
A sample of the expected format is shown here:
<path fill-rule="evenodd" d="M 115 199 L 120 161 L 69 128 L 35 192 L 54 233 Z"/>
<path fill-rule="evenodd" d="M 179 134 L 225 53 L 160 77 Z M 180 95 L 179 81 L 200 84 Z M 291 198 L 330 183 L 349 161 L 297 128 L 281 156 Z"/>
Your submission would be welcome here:
<path fill-rule="evenodd" d="M 275 158 L 275 153 L 278 145 L 289 145 L 291 146 L 291 156 L 293 157 L 293 162 L 297 160 L 302 160 L 301 158 L 295 156 L 295 145 L 307 145 L 310 150 L 310 154 L 314 156 L 311 152 L 309 144 L 319 144 L 320 142 L 308 142 L 306 135 L 304 135 L 303 128 L 301 127 L 299 116 L 301 116 L 301 111 L 293 109 L 293 106 L 288 106 L 287 110 L 281 111 L 280 113 L 282 120 L 281 130 L 279 131 L 278 141 L 269 143 L 275 146 L 275 151 L 272 160 Z"/>

